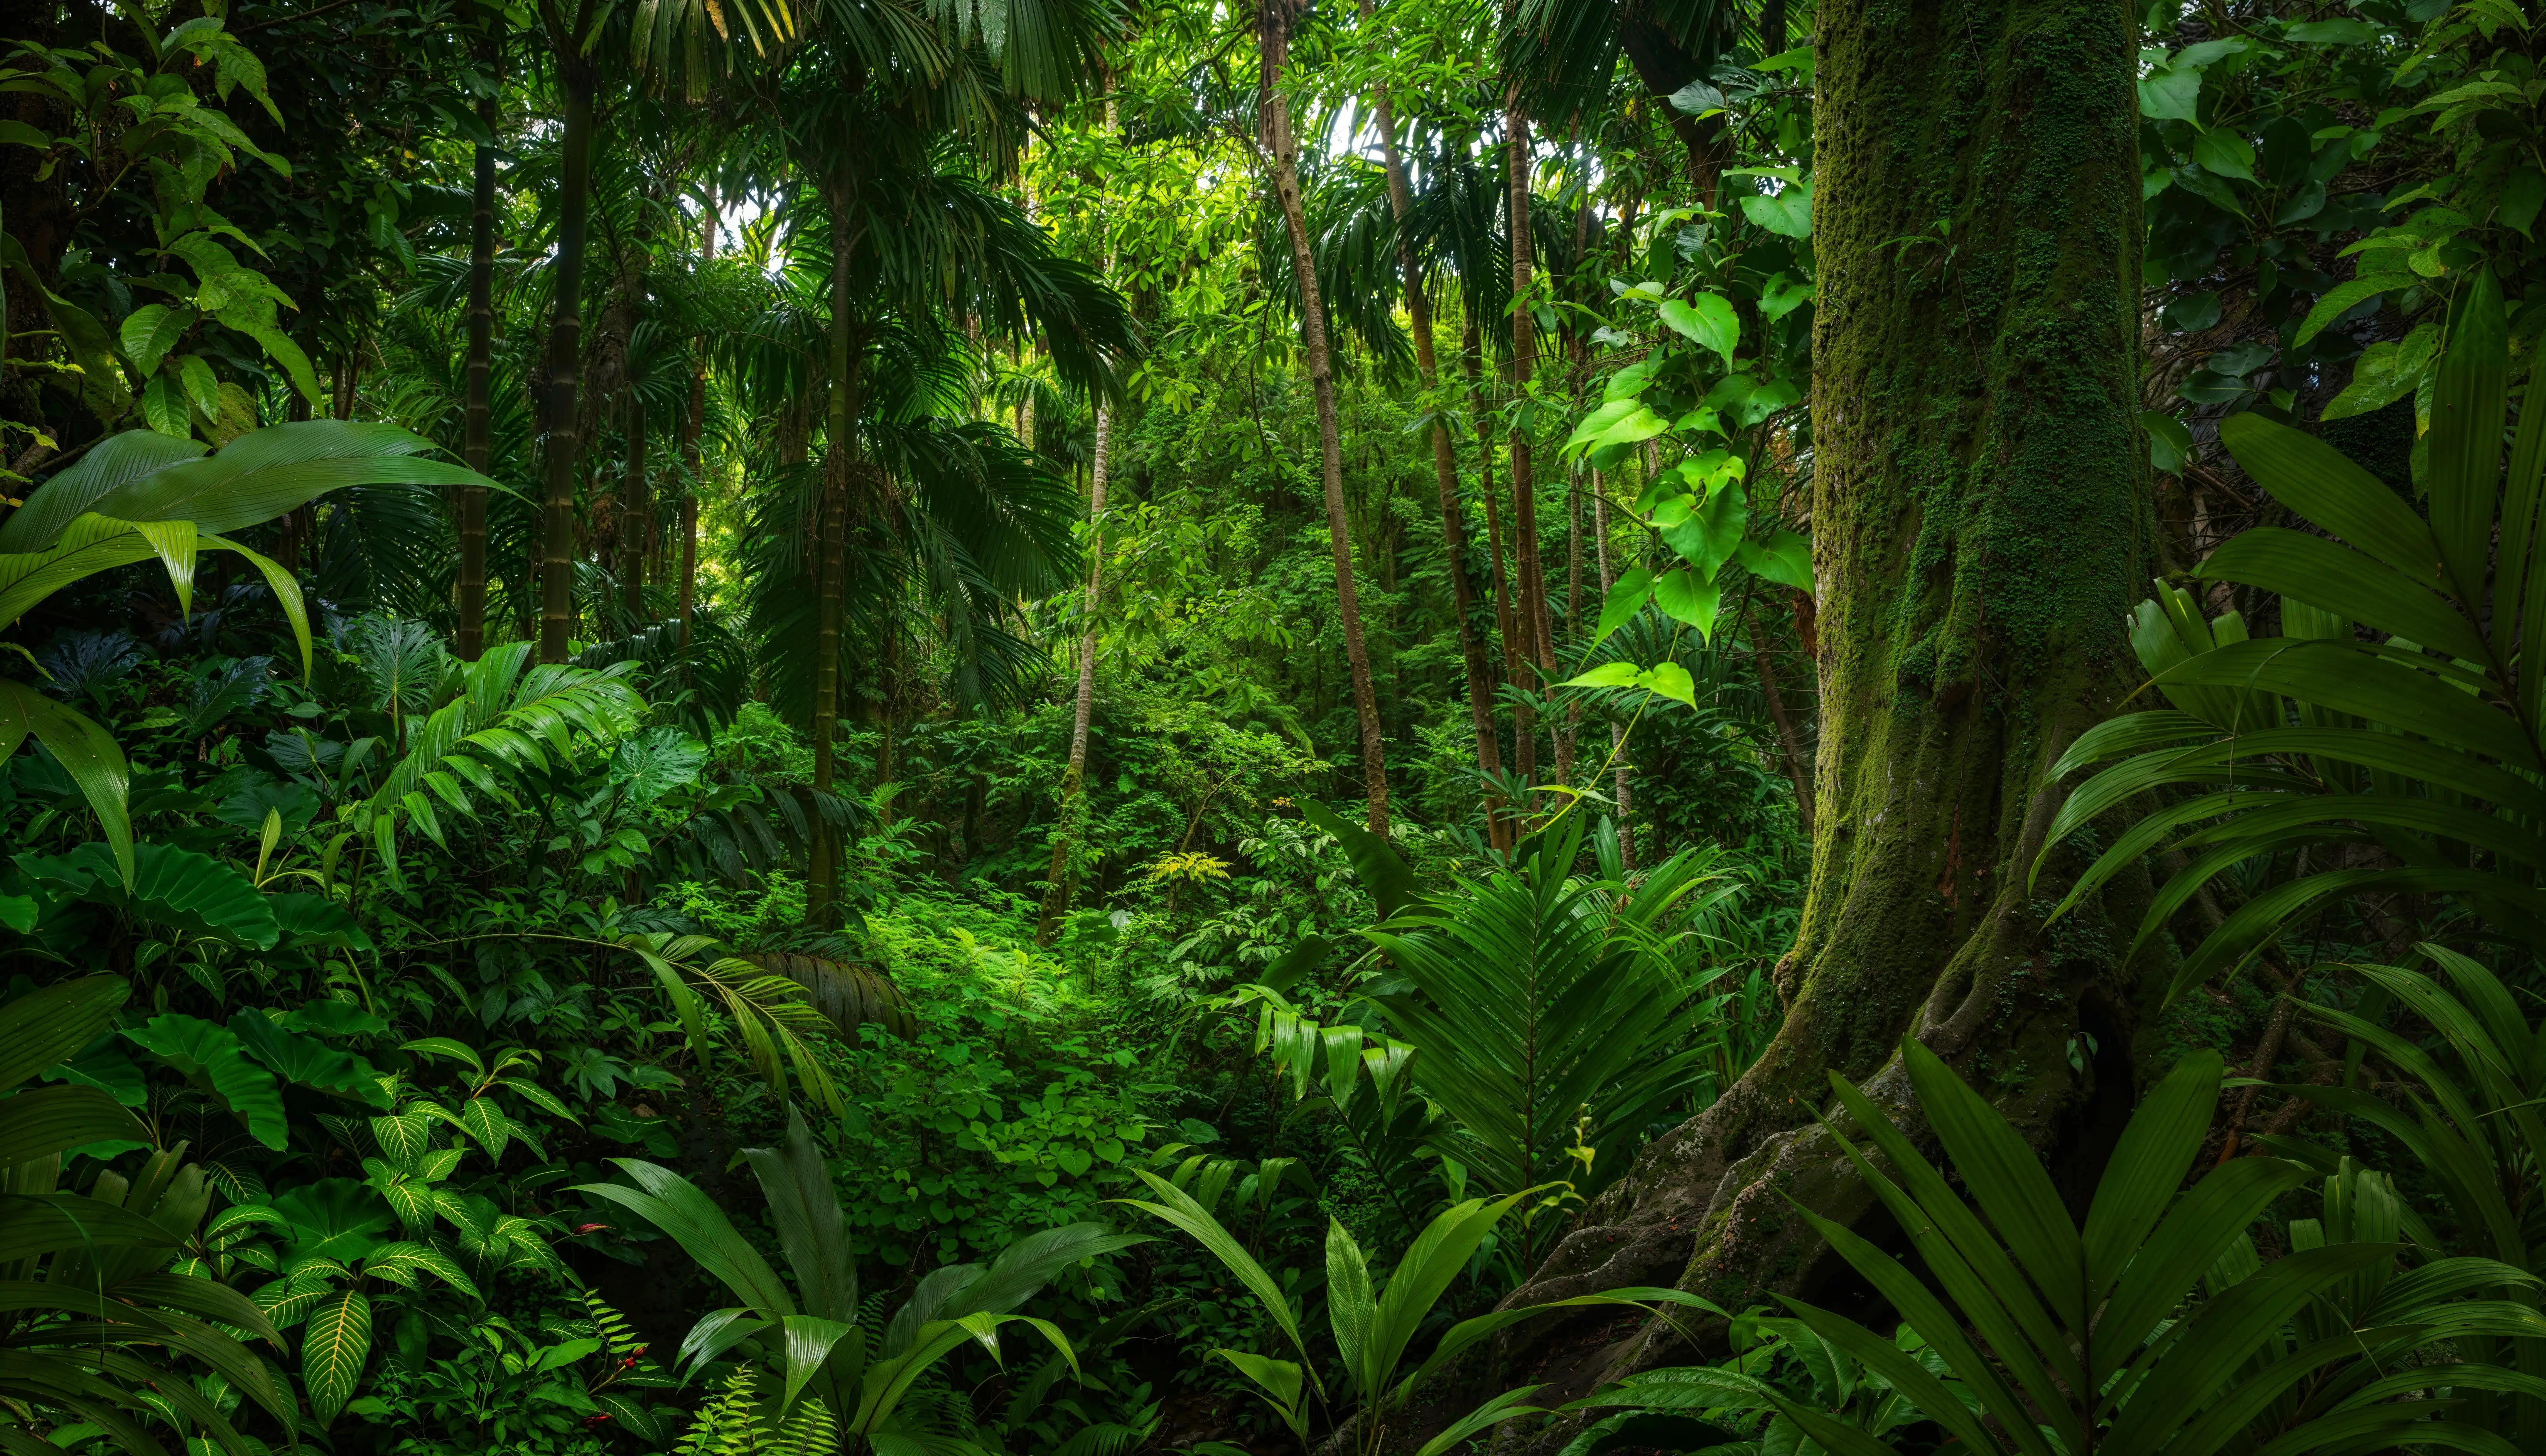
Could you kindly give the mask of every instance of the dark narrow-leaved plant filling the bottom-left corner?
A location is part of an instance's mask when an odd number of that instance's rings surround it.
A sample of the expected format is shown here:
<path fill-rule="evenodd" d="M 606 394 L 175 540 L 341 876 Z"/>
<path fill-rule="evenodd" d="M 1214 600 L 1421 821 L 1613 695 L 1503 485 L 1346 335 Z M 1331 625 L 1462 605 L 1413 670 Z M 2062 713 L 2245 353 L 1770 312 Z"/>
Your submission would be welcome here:
<path fill-rule="evenodd" d="M 201 1265 L 168 1268 L 204 1222 L 204 1168 L 176 1145 L 153 1151 L 132 1176 L 102 1171 L 87 1194 L 61 1191 L 64 1153 L 148 1148 L 150 1133 L 99 1087 L 20 1089 L 104 1033 L 127 995 L 122 977 L 89 975 L 0 1005 L 0 1280 L 13 1291 L 0 1319 L 0 1400 L 10 1408 L 0 1446 L 48 1451 L 23 1425 L 36 1413 L 81 1420 L 137 1456 L 168 1456 L 153 1423 L 178 1428 L 178 1451 L 201 1431 L 229 1456 L 252 1456 L 260 1446 L 168 1364 L 176 1354 L 199 1359 L 283 1431 L 298 1428 L 290 1390 L 229 1334 L 280 1352 L 265 1311 L 196 1273 Z"/>

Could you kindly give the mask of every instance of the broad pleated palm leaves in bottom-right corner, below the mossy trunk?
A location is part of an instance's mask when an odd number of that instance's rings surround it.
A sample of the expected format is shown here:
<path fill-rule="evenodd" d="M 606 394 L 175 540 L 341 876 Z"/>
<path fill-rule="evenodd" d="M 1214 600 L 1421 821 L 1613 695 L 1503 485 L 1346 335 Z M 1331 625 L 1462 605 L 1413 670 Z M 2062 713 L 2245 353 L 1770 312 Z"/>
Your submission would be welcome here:
<path fill-rule="evenodd" d="M 1981 1095 L 1917 1039 L 1902 1041 L 1917 1110 L 1943 1143 L 1968 1204 L 1836 1072 L 1846 1120 L 1828 1135 L 1899 1219 L 1932 1270 L 1925 1285 L 1853 1229 L 1797 1207 L 1960 1380 L 1971 1400 L 1871 1329 L 1780 1296 L 1813 1334 L 1866 1362 L 1971 1451 L 2027 1456 L 2212 1456 L 2388 1446 L 2457 1446 L 2454 1392 L 2546 1390 L 2505 1367 L 2439 1364 L 2421 1352 L 2470 1336 L 2546 1331 L 2533 1306 L 2457 1301 L 2485 1285 L 2531 1285 L 2495 1260 L 2444 1257 L 2398 1270 L 2396 1201 L 2383 1179 L 2342 1171 L 2324 1219 L 2294 1229 L 2294 1252 L 2261 1265 L 2248 1224 L 2307 1168 L 2233 1158 L 2177 1194 L 2218 1107 L 2220 1059 L 2187 1054 L 2131 1115 L 2085 1222 L 2070 1217 L 2042 1161 Z M 2195 1283 L 2205 1296 L 2182 1311 Z M 1881 1441 L 1782 1400 L 1777 1408 L 1838 1456 Z"/>

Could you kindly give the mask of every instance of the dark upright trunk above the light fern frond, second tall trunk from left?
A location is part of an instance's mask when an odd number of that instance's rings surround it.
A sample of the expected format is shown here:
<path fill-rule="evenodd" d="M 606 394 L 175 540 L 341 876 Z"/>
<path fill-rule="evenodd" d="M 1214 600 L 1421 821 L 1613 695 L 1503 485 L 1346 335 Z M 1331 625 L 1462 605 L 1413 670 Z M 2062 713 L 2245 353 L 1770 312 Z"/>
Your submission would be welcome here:
<path fill-rule="evenodd" d="M 580 36 L 575 38 L 580 41 Z M 565 662 L 575 634 L 575 471 L 583 430 L 575 387 L 583 379 L 583 237 L 593 206 L 593 74 L 560 46 L 565 125 L 558 168 L 555 313 L 547 331 L 547 501 L 540 522 L 540 662 Z"/>

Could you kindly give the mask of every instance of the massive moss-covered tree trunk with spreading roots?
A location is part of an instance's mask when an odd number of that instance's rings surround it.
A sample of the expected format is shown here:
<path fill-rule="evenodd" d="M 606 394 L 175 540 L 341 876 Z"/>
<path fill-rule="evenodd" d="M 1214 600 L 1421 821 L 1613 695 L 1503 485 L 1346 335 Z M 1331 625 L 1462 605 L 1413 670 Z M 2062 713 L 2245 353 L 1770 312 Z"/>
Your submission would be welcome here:
<path fill-rule="evenodd" d="M 2044 771 L 2136 685 L 2134 20 L 2118 0 L 1831 0 L 1815 31 L 1823 720 L 1785 1023 L 1512 1303 L 1645 1283 L 1726 1308 L 1810 1298 L 1838 1265 L 1787 1199 L 1879 1209 L 1813 1123 L 1825 1072 L 1907 1107 L 1904 1033 L 2067 1179 L 2093 1179 L 2134 1100 L 2156 977 L 2118 962 L 2126 932 L 2098 914 L 2047 929 L 2027 888 L 2057 807 Z M 1507 1354 L 1558 1382 L 1540 1400 L 1696 1354 L 1637 1324 L 1525 1339 Z"/>

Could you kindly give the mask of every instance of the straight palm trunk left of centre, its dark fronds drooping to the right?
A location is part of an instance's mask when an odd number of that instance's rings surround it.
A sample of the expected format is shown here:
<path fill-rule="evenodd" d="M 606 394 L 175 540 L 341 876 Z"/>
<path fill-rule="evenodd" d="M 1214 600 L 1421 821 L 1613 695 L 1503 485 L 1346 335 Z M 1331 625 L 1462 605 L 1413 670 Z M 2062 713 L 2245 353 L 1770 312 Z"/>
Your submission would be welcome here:
<path fill-rule="evenodd" d="M 848 262 L 855 247 L 850 209 L 855 183 L 848 168 L 833 173 L 830 191 L 830 400 L 822 420 L 822 585 L 812 634 L 812 787 L 830 794 L 838 776 L 840 736 L 840 626 L 848 619 L 848 494 L 858 453 L 858 326 Z M 840 845 L 830 827 L 815 830 L 812 883 L 805 909 L 817 929 L 830 929 L 840 899 Z"/>

